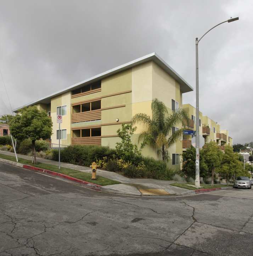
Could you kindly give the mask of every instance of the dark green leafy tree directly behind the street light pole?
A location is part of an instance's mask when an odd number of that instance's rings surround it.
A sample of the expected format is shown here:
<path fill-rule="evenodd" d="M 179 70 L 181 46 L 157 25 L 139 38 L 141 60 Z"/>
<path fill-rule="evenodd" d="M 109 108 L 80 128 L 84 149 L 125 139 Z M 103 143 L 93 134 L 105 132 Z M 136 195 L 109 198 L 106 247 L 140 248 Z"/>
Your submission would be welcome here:
<path fill-rule="evenodd" d="M 182 171 L 187 177 L 196 177 L 196 149 L 193 146 L 190 146 L 189 149 L 186 149 L 182 153 L 183 165 Z M 199 174 L 200 176 L 206 176 L 208 167 L 203 160 L 203 151 L 199 150 Z"/>

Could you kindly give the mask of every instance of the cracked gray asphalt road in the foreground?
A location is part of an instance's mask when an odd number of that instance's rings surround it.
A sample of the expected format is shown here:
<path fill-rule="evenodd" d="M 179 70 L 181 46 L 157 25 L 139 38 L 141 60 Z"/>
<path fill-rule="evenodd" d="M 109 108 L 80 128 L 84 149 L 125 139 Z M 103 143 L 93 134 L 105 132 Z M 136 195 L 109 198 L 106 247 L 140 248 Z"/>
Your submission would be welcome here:
<path fill-rule="evenodd" d="M 253 189 L 120 196 L 0 163 L 0 256 L 251 255 L 252 202 Z"/>

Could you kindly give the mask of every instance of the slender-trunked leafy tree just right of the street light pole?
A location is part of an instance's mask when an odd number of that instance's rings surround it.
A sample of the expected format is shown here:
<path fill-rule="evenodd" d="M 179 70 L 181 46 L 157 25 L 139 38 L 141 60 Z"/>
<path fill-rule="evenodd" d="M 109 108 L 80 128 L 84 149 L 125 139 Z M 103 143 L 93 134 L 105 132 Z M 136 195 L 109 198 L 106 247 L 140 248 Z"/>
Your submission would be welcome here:
<path fill-rule="evenodd" d="M 202 150 L 204 153 L 204 161 L 206 162 L 208 167 L 212 169 L 212 186 L 213 186 L 215 167 L 220 166 L 222 151 L 214 141 L 211 141 L 210 143 L 208 143 L 207 146 Z"/>

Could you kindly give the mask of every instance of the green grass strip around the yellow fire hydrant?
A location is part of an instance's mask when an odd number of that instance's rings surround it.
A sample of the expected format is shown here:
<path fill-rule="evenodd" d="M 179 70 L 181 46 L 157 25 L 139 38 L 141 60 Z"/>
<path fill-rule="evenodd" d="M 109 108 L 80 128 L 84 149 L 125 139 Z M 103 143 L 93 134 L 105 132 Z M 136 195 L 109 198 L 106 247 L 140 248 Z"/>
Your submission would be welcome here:
<path fill-rule="evenodd" d="M 16 162 L 15 156 L 0 154 L 0 158 Z M 100 185 L 100 186 L 107 186 L 107 185 L 114 185 L 114 184 L 121 183 L 119 181 L 110 180 L 108 178 L 101 177 L 99 175 L 96 176 L 97 180 L 91 180 L 91 174 L 89 174 L 87 172 L 77 171 L 77 170 L 69 169 L 66 167 L 61 167 L 61 169 L 59 169 L 58 165 L 43 164 L 41 162 L 37 162 L 36 165 L 33 165 L 31 160 L 27 160 L 27 159 L 23 159 L 23 158 L 18 158 L 18 162 L 21 164 L 31 165 L 31 166 L 35 166 L 35 167 L 49 170 L 49 171 L 59 172 L 61 174 L 65 174 L 65 175 L 68 175 L 68 176 L 71 176 L 74 178 L 78 178 L 79 180 L 88 181 L 88 182 L 91 182 L 91 183 L 94 183 L 94 184 Z"/>

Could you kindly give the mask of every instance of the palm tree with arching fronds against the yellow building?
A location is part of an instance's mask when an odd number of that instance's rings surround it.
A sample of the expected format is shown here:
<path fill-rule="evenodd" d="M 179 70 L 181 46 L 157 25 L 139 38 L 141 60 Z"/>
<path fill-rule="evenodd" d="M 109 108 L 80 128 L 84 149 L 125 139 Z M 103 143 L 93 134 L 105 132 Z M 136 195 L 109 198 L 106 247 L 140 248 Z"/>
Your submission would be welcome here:
<path fill-rule="evenodd" d="M 157 154 L 162 156 L 163 161 L 169 160 L 168 149 L 175 144 L 184 130 L 185 121 L 189 123 L 188 113 L 183 109 L 168 113 L 167 107 L 157 98 L 151 103 L 152 117 L 144 113 L 137 113 L 132 119 L 132 123 L 140 123 L 147 128 L 141 132 L 139 140 L 143 140 L 141 147 L 146 144 L 157 149 Z M 181 128 L 172 131 L 176 126 Z"/>

